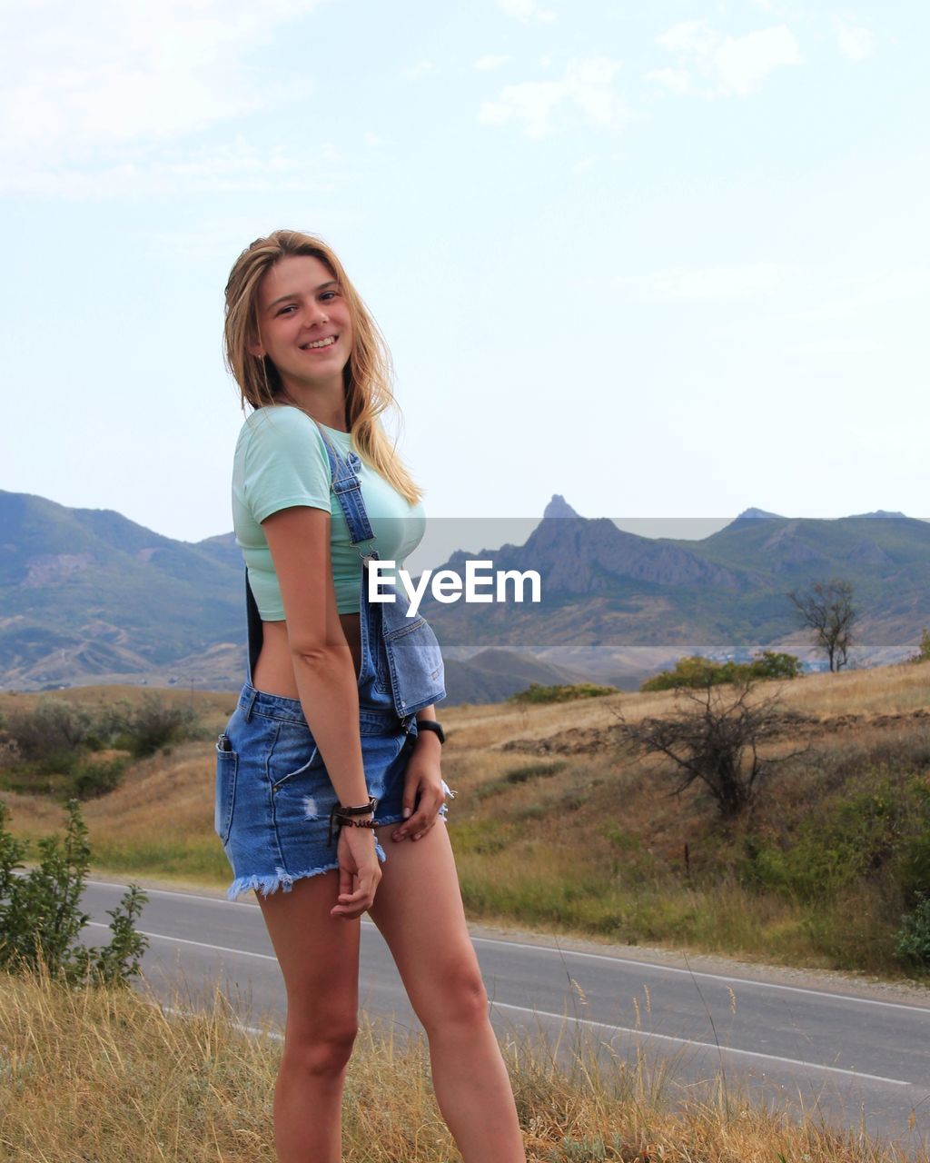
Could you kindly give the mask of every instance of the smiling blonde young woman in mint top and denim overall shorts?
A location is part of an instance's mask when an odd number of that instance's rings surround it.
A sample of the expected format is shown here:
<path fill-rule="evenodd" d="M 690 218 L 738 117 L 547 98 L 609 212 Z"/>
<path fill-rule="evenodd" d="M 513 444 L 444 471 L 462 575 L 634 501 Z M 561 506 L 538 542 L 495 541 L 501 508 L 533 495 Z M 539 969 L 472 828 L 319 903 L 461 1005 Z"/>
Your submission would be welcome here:
<path fill-rule="evenodd" d="M 229 896 L 256 892 L 287 990 L 278 1158 L 341 1158 L 367 912 L 427 1030 L 464 1160 L 523 1163 L 443 820 L 443 735 L 423 701 L 444 693 L 435 637 L 422 623 L 393 649 L 386 607 L 367 599 L 364 562 L 402 563 L 424 522 L 379 421 L 394 402 L 386 349 L 332 251 L 277 230 L 233 267 L 226 352 L 252 409 L 233 479 L 251 616 L 215 825 Z"/>

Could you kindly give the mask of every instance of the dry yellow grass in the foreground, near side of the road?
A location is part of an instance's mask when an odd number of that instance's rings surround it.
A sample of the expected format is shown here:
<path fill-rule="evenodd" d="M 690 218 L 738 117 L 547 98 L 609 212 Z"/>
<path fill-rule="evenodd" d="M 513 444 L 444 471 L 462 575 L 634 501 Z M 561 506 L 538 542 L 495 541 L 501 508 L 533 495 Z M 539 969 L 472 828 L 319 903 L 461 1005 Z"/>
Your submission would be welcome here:
<path fill-rule="evenodd" d="M 212 1009 L 193 1016 L 128 990 L 0 977 L 0 1150 L 10 1163 L 273 1161 L 280 1043 L 267 1026 L 258 1036 L 237 1028 L 219 990 Z M 816 1111 L 799 1122 L 768 1113 L 731 1084 L 686 1091 L 686 1101 L 673 1104 L 681 1092 L 667 1072 L 642 1056 L 610 1058 L 571 1027 L 558 1059 L 539 1041 L 503 1049 L 530 1163 L 904 1157 L 859 1133 L 825 1129 Z M 459 1158 L 420 1040 L 363 1023 L 344 1111 L 346 1163 Z"/>

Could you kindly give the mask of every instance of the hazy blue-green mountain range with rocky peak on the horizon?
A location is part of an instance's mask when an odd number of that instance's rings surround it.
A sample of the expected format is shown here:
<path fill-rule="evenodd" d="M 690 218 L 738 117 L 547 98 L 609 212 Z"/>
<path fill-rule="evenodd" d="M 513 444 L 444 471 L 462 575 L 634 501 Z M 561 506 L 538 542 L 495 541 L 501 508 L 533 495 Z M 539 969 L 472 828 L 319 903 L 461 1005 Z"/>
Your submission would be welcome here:
<path fill-rule="evenodd" d="M 809 652 L 788 591 L 852 583 L 857 658 L 906 656 L 930 626 L 930 523 L 875 512 L 835 520 L 749 508 L 701 541 L 643 537 L 556 495 L 522 545 L 452 554 L 535 570 L 538 604 L 422 611 L 446 657 L 450 701 L 529 682 L 634 686 L 682 654 Z M 174 541 L 108 509 L 0 491 L 0 686 L 98 682 L 234 688 L 244 665 L 244 570 L 233 534 Z"/>

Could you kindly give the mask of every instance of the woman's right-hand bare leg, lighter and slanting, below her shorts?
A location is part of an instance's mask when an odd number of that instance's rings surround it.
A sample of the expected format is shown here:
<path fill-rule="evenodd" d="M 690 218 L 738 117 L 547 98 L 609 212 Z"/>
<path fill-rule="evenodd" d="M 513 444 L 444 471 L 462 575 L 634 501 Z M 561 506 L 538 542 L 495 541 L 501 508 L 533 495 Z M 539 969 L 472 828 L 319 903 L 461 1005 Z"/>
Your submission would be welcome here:
<path fill-rule="evenodd" d="M 443 1118 L 465 1163 L 524 1163 L 445 825 L 416 842 L 392 841 L 396 825 L 379 830 L 387 863 L 370 913 L 427 1030 Z"/>

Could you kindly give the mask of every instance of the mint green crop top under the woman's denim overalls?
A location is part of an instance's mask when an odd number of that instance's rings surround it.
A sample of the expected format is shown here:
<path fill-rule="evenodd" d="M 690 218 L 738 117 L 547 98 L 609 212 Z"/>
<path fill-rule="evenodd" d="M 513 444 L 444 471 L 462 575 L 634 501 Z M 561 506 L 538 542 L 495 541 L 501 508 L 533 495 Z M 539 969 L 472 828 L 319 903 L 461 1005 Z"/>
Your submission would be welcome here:
<path fill-rule="evenodd" d="M 350 433 L 320 424 L 341 456 L 352 451 Z M 403 564 L 425 531 L 422 502 L 410 505 L 365 461 L 358 469 L 362 495 L 374 541 L 350 544 L 349 527 L 338 500 L 330 493 L 330 469 L 316 422 L 299 408 L 279 405 L 258 408 L 245 420 L 233 462 L 233 527 L 249 570 L 249 583 L 263 621 L 284 621 L 284 604 L 262 522 L 295 505 L 326 509 L 332 515 L 330 552 L 336 608 L 357 614 L 362 583 L 359 552 L 377 549 L 382 561 Z"/>

